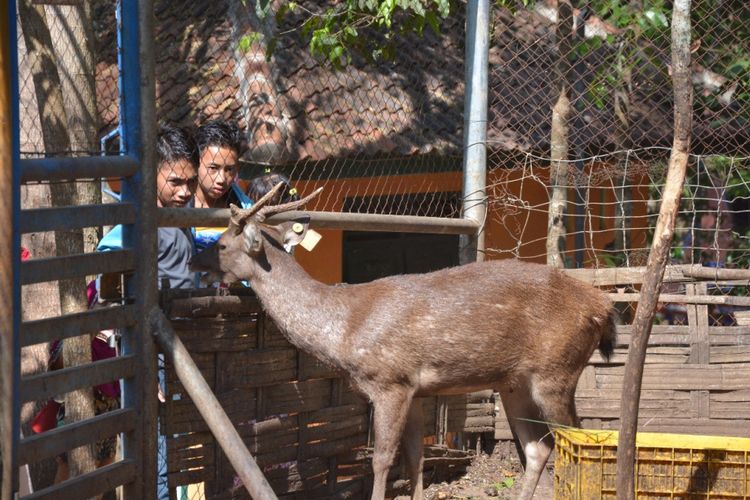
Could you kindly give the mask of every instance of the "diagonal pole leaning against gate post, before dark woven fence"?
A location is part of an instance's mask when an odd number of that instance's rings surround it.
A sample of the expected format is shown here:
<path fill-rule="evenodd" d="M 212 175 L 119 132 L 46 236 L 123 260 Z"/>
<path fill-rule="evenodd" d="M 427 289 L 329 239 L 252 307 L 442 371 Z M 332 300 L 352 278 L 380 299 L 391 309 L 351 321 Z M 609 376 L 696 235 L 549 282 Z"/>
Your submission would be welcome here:
<path fill-rule="evenodd" d="M 276 494 L 243 444 L 237 429 L 232 425 L 216 396 L 211 392 L 185 345 L 175 335 L 167 317 L 158 307 L 154 307 L 149 313 L 148 320 L 165 356 L 174 365 L 177 378 L 226 453 L 248 493 L 256 500 L 275 500 Z"/>

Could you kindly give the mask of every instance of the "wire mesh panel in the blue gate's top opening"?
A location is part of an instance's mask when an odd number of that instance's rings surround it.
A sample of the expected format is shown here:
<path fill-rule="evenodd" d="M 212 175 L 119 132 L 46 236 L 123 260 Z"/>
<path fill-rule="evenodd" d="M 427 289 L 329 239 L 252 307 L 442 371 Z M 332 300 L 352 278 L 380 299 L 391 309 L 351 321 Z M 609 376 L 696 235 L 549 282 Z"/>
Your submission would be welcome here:
<path fill-rule="evenodd" d="M 100 154 L 119 95 L 114 2 L 18 2 L 17 23 L 22 157 Z"/>

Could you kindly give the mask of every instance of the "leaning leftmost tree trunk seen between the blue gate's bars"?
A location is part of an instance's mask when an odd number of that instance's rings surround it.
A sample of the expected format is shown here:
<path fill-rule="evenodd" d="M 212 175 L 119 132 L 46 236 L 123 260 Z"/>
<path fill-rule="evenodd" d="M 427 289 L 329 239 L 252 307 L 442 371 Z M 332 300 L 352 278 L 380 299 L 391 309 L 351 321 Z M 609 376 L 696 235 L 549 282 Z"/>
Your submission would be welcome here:
<path fill-rule="evenodd" d="M 29 0 L 18 3 L 18 14 L 23 27 L 23 37 L 29 54 L 42 125 L 44 148 L 48 155 L 64 154 L 70 151 L 67 132 L 67 116 L 63 104 L 62 85 L 52 39 L 47 25 L 44 6 L 32 6 Z M 74 183 L 53 183 L 50 185 L 52 206 L 79 204 Z M 83 252 L 81 231 L 55 231 L 57 255 L 70 255 Z M 32 249 L 33 251 L 33 249 Z M 72 279 L 58 283 L 60 309 L 62 314 L 81 312 L 86 309 L 86 280 Z M 67 366 L 76 366 L 91 361 L 90 336 L 82 335 L 66 339 L 63 358 Z M 93 392 L 90 387 L 82 388 L 65 395 L 66 421 L 81 421 L 94 416 Z M 68 452 L 71 476 L 93 471 L 94 444 L 82 446 Z"/>

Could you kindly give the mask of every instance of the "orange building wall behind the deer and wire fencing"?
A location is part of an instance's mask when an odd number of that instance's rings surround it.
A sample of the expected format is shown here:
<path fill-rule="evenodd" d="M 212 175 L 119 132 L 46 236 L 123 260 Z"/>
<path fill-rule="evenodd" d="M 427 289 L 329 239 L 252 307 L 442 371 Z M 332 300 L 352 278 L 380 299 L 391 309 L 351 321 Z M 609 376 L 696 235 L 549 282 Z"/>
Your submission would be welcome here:
<path fill-rule="evenodd" d="M 594 166 L 593 168 L 597 168 Z M 487 258 L 519 256 L 538 262 L 546 261 L 547 237 L 547 189 L 548 169 L 525 168 L 493 169 L 488 173 L 487 193 L 490 207 L 485 224 L 485 247 Z M 347 197 L 382 196 L 386 194 L 408 194 L 425 192 L 460 192 L 462 177 L 460 172 L 439 174 L 416 174 L 397 177 L 353 178 L 343 180 L 300 181 L 297 189 L 302 195 L 314 187 L 323 185 L 325 189 L 311 208 L 319 211 L 341 211 Z M 631 182 L 639 189 L 633 189 L 633 215 L 630 219 L 631 246 L 642 248 L 646 242 L 646 201 L 648 189 L 641 182 Z M 587 207 L 589 214 L 585 223 L 585 263 L 595 263 L 596 256 L 590 250 L 601 249 L 615 238 L 614 191 L 611 184 L 588 189 Z M 586 193 L 584 193 L 585 195 Z M 573 201 L 575 192 L 568 190 L 569 214 L 575 213 Z M 571 222 L 571 224 L 573 224 Z M 572 232 L 573 226 L 569 226 Z M 302 248 L 295 251 L 300 264 L 319 281 L 338 283 L 342 279 L 343 234 L 339 230 L 320 230 L 323 236 L 312 252 Z M 520 247 L 517 247 L 518 241 Z M 574 236 L 569 235 L 566 248 L 574 248 Z M 572 259 L 572 254 L 569 255 Z"/>

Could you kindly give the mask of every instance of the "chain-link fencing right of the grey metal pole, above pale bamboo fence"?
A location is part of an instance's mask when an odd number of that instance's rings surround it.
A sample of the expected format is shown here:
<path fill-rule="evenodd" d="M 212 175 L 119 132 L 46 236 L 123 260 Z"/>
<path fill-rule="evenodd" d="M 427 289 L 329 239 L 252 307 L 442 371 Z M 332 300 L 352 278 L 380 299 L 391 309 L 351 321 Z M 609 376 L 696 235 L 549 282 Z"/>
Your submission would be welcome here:
<path fill-rule="evenodd" d="M 643 265 L 672 142 L 670 9 L 662 2 L 574 2 L 580 9 L 558 20 L 548 2 L 502 3 L 510 8 L 494 9 L 491 30 L 488 199 L 490 223 L 503 227 L 496 240 L 506 241 L 488 244 L 488 252 L 544 260 L 557 186 L 567 200 L 569 267 Z M 750 10 L 741 2 L 698 1 L 692 23 L 691 152 L 700 156 L 689 166 L 673 254 L 742 267 Z M 561 89 L 566 110 L 556 108 Z M 554 109 L 567 117 L 556 142 Z M 553 186 L 556 148 L 566 161 Z"/>

